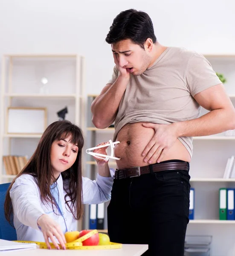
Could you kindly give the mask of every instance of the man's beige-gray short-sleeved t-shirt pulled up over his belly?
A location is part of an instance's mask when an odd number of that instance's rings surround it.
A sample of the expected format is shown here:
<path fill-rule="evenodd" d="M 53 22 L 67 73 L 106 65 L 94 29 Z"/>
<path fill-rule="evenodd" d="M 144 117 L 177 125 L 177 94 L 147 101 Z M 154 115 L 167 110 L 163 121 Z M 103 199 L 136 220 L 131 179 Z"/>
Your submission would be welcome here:
<path fill-rule="evenodd" d="M 107 84 L 113 84 L 117 77 L 115 66 Z M 113 141 L 127 123 L 169 124 L 197 118 L 201 107 L 194 95 L 216 84 L 221 81 L 203 55 L 168 47 L 142 75 L 130 75 L 116 116 Z M 192 156 L 192 137 L 178 139 Z"/>

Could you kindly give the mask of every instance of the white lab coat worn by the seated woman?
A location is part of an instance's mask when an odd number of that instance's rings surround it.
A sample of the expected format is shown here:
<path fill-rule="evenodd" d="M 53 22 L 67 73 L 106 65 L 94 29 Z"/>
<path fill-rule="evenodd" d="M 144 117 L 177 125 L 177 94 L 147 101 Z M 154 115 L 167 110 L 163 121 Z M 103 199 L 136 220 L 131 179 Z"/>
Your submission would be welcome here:
<path fill-rule="evenodd" d="M 114 170 L 110 170 L 113 172 Z M 65 184 L 66 185 L 66 184 Z M 61 214 L 58 214 L 56 207 L 41 201 L 39 188 L 32 175 L 24 174 L 15 180 L 10 190 L 12 207 L 14 212 L 14 226 L 17 232 L 17 240 L 20 241 L 45 241 L 37 221 L 42 214 L 49 215 L 55 220 L 65 233 L 77 229 L 77 222 L 72 213 L 66 208 L 61 175 L 57 180 L 59 200 L 61 201 Z M 96 180 L 82 178 L 83 203 L 99 204 L 110 200 L 113 177 L 102 177 L 99 174 Z"/>

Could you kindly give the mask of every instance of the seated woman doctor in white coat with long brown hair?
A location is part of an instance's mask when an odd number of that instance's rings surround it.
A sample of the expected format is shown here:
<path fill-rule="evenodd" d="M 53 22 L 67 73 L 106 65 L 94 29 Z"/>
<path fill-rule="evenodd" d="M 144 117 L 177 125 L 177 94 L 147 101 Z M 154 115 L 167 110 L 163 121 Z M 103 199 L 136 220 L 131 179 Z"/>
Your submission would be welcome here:
<path fill-rule="evenodd" d="M 49 239 L 65 249 L 64 233 L 76 230 L 83 204 L 110 200 L 113 177 L 107 161 L 96 159 L 96 180 L 82 177 L 81 129 L 69 121 L 49 125 L 24 169 L 12 181 L 4 204 L 6 219 L 14 213 L 17 240 Z M 95 152 L 106 154 L 106 148 Z M 56 239 L 58 241 L 56 241 Z"/>

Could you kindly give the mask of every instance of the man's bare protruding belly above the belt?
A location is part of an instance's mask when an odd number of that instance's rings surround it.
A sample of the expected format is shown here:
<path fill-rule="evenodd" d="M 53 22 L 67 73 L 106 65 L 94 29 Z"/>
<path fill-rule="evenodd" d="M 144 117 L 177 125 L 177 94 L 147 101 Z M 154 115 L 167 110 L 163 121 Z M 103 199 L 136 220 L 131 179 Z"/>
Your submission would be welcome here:
<path fill-rule="evenodd" d="M 149 165 L 148 162 L 144 162 L 142 152 L 154 133 L 154 129 L 145 128 L 142 126 L 142 122 L 128 123 L 123 126 L 116 138 L 116 141 L 120 141 L 120 143 L 114 148 L 115 156 L 121 157 L 121 160 L 116 160 L 117 169 Z M 176 140 L 174 145 L 168 149 L 162 161 L 173 159 L 191 161 L 189 151 L 180 140 Z"/>

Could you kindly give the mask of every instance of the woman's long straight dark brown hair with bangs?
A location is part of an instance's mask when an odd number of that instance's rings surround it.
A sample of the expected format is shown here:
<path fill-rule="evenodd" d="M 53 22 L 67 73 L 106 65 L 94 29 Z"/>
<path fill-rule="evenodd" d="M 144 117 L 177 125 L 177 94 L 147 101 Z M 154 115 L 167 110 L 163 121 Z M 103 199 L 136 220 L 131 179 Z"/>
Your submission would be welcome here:
<path fill-rule="evenodd" d="M 55 206 L 55 202 L 50 192 L 50 184 L 52 181 L 55 182 L 56 180 L 52 173 L 50 160 L 51 146 L 55 140 L 66 139 L 69 136 L 71 136 L 70 143 L 78 145 L 78 155 L 73 166 L 62 172 L 61 176 L 63 182 L 65 180 L 68 181 L 64 182 L 64 190 L 67 192 L 64 199 L 67 207 L 69 208 L 69 211 L 72 212 L 73 217 L 76 220 L 79 220 L 83 214 L 82 148 L 84 145 L 84 139 L 82 131 L 77 125 L 74 125 L 67 120 L 56 121 L 49 125 L 44 131 L 34 154 L 17 177 L 23 174 L 29 174 L 35 177 L 35 181 L 40 190 L 41 200 L 52 204 L 53 208 L 53 205 Z M 15 177 L 10 184 L 9 189 L 6 192 L 6 200 L 4 203 L 6 220 L 9 221 L 10 224 L 12 224 L 13 214 L 10 189 L 17 177 Z M 67 186 L 65 186 L 65 183 L 67 183 Z"/>

